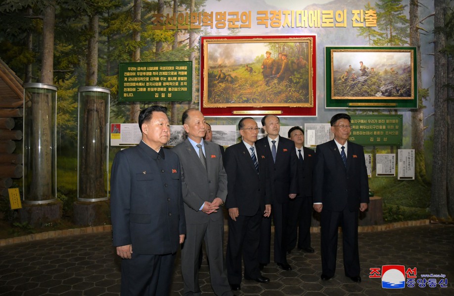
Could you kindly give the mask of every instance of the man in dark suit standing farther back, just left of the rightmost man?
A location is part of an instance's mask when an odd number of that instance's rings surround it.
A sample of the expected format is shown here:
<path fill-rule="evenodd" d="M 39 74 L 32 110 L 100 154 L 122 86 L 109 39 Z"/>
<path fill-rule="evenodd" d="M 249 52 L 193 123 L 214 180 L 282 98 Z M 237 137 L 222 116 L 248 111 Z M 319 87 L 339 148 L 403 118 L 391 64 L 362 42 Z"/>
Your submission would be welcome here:
<path fill-rule="evenodd" d="M 294 126 L 288 131 L 288 137 L 295 143 L 298 157 L 298 194 L 289 202 L 287 218 L 287 253 L 298 246 L 298 250 L 314 253 L 311 247 L 312 220 L 312 170 L 314 168 L 315 152 L 304 147 L 304 131 Z M 298 244 L 297 244 L 298 241 Z"/>

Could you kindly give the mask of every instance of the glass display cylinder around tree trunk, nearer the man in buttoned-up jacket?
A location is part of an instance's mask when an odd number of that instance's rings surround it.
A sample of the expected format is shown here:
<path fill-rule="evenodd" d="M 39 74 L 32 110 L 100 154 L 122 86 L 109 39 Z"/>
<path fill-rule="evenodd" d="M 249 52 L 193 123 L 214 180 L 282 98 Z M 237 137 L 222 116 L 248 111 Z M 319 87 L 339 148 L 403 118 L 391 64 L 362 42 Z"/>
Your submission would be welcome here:
<path fill-rule="evenodd" d="M 77 153 L 77 199 L 109 198 L 109 108 L 110 90 L 79 88 L 79 133 Z"/>

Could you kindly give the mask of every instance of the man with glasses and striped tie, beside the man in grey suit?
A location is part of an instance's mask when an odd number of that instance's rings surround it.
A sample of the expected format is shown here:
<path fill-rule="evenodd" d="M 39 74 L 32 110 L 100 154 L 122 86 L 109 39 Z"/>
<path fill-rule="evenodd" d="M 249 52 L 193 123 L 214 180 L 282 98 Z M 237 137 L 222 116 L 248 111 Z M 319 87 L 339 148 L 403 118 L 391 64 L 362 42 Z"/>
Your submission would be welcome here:
<path fill-rule="evenodd" d="M 227 276 L 232 290 L 240 290 L 241 258 L 244 278 L 268 283 L 259 269 L 257 252 L 262 217 L 271 215 L 271 199 L 267 194 L 267 170 L 264 151 L 255 145 L 259 128 L 251 117 L 238 123 L 241 143 L 226 149 L 228 242 Z M 211 264 L 211 263 L 210 263 Z"/>

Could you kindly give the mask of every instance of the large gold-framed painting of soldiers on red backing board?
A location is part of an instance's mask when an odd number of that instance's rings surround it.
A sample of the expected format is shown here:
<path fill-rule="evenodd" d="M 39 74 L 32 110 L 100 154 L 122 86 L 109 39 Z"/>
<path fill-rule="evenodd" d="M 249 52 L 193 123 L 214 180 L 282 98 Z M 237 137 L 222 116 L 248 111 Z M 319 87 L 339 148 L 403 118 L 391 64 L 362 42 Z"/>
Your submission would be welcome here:
<path fill-rule="evenodd" d="M 315 116 L 315 36 L 202 36 L 205 116 Z"/>

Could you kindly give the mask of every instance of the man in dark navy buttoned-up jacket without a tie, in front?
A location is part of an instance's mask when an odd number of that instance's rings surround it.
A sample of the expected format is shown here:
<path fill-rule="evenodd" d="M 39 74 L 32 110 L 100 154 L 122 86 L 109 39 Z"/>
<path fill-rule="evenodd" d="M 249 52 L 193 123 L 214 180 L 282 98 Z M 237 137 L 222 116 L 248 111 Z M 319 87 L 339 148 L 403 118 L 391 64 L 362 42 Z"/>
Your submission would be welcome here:
<path fill-rule="evenodd" d="M 140 111 L 139 145 L 112 164 L 112 244 L 121 263 L 122 295 L 169 295 L 175 257 L 184 241 L 180 161 L 162 148 L 170 139 L 167 109 Z"/>

